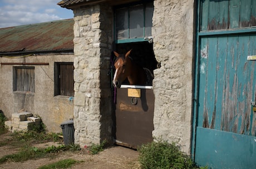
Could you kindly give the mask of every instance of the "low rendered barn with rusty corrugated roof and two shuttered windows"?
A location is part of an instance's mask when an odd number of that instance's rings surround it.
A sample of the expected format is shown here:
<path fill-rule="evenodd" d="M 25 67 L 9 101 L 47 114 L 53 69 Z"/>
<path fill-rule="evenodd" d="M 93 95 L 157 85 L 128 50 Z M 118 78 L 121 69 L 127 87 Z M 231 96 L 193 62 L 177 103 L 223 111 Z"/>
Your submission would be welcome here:
<path fill-rule="evenodd" d="M 62 122 L 73 119 L 73 23 L 0 28 L 0 110 L 9 120 L 25 111 L 41 117 L 49 132 L 61 132 Z"/>

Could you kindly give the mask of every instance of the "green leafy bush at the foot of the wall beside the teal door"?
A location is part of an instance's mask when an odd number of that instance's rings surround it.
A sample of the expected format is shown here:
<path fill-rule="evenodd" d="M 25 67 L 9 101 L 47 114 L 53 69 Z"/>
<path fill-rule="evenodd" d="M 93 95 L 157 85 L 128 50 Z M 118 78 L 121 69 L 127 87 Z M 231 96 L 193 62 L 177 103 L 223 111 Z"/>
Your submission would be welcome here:
<path fill-rule="evenodd" d="M 194 169 L 199 168 L 180 146 L 167 141 L 150 142 L 138 148 L 141 169 Z M 206 168 L 205 168 L 206 169 Z"/>

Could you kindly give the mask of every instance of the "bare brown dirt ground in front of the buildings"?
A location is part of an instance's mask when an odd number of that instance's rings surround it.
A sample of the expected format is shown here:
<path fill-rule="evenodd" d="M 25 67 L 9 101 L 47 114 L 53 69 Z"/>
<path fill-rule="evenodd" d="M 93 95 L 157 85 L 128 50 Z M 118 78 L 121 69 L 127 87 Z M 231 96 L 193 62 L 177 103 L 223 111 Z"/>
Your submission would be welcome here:
<path fill-rule="evenodd" d="M 0 136 L 0 142 L 8 139 L 9 134 L 4 134 Z M 58 146 L 57 142 L 45 142 L 43 144 L 35 144 L 35 147 L 49 147 Z M 1 146 L 0 147 L 0 157 L 4 155 L 9 155 L 18 152 L 19 148 L 13 148 L 13 146 Z M 16 168 L 16 169 L 35 169 L 40 166 L 50 164 L 59 160 L 72 158 L 73 160 L 82 161 L 72 166 L 73 169 L 135 169 L 139 168 L 138 160 L 139 152 L 131 150 L 130 148 L 125 148 L 121 146 L 113 146 L 106 148 L 104 151 L 97 155 L 88 154 L 87 150 L 81 150 L 77 152 L 60 152 L 54 157 L 40 158 L 37 160 L 28 160 L 24 162 L 6 162 L 0 165 L 0 168 Z"/>

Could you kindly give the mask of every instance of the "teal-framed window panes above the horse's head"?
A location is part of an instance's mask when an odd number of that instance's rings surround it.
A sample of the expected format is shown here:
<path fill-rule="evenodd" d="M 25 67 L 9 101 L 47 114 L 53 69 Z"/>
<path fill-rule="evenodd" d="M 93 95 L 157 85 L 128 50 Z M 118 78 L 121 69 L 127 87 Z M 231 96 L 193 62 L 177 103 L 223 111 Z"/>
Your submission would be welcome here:
<path fill-rule="evenodd" d="M 153 3 L 115 9 L 116 43 L 142 42 L 151 36 Z"/>

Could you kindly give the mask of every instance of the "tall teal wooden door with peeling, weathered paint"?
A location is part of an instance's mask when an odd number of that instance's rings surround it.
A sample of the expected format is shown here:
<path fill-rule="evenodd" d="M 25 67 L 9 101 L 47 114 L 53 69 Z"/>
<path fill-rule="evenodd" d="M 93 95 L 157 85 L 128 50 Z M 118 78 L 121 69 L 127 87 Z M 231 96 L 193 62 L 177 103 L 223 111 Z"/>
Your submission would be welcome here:
<path fill-rule="evenodd" d="M 254 0 L 198 3 L 191 154 L 209 168 L 256 168 Z"/>

